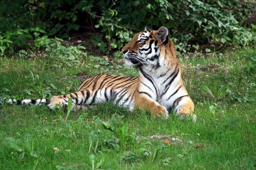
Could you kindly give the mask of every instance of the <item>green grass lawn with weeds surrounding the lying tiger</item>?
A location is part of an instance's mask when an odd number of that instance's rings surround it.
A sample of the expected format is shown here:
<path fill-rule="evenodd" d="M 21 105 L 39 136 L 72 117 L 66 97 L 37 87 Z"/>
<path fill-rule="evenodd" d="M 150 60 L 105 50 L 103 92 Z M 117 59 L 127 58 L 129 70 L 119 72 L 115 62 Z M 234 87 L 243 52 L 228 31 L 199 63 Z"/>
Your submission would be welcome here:
<path fill-rule="evenodd" d="M 2 169 L 256 169 L 256 75 L 253 70 L 243 71 L 244 67 L 251 67 L 248 62 L 256 57 L 255 46 L 218 55 L 180 58 L 183 80 L 195 104 L 196 123 L 180 121 L 174 114 L 168 120 L 157 120 L 148 112 L 129 112 L 110 103 L 79 110 L 64 121 L 44 105 L 0 103 L 0 166 Z M 81 61 L 72 67 L 52 68 L 48 60 L 8 58 L 0 67 L 0 93 L 10 97 L 36 98 L 42 94 L 49 97 L 75 91 L 80 84 L 75 77 L 78 73 L 86 77 L 137 75 L 134 68 L 99 65 L 97 58 L 90 56 L 83 59 L 83 67 Z M 213 93 L 212 81 L 219 89 L 220 85 L 232 85 L 214 101 L 202 89 L 206 85 Z M 64 112 L 61 114 L 65 117 Z M 112 116 L 117 119 L 124 116 L 114 127 L 127 129 L 121 135 L 127 137 L 125 150 L 113 132 L 97 123 L 99 119 L 110 122 Z M 128 127 L 122 124 L 125 121 Z"/>

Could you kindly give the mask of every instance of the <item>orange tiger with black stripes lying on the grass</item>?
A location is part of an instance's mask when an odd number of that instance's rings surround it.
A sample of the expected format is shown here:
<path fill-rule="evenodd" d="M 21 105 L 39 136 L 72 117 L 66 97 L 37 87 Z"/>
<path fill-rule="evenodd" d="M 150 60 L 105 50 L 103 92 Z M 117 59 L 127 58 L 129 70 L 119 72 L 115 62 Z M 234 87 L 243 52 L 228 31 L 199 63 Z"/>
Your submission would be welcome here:
<path fill-rule="evenodd" d="M 146 110 L 155 118 L 168 118 L 168 111 L 174 110 L 181 120 L 192 118 L 194 103 L 181 77 L 181 66 L 175 46 L 169 38 L 168 28 L 145 30 L 135 34 L 122 48 L 127 66 L 138 68 L 138 77 L 98 75 L 83 81 L 76 92 L 53 96 L 49 99 L 19 99 L 22 104 L 47 104 L 51 110 L 67 107 L 72 97 L 71 111 L 86 108 L 106 101 L 134 110 Z M 7 101 L 14 104 L 16 100 Z"/>

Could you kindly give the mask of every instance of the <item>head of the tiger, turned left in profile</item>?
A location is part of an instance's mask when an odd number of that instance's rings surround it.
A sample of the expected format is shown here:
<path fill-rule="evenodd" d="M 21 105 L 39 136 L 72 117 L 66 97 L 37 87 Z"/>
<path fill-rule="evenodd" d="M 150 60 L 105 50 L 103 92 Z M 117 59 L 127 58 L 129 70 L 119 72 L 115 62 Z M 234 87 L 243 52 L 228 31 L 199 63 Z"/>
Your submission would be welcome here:
<path fill-rule="evenodd" d="M 165 26 L 156 31 L 146 26 L 144 31 L 135 34 L 122 48 L 126 65 L 159 67 L 168 56 L 166 53 L 176 57 L 174 44 L 168 35 L 168 28 Z"/>

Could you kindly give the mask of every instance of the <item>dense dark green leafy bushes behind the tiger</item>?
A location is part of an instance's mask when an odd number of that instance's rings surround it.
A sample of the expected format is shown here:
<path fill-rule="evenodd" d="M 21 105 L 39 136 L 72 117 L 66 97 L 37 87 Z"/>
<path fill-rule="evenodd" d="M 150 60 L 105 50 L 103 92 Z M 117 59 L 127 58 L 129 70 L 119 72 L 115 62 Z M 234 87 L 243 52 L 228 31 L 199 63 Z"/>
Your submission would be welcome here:
<path fill-rule="evenodd" d="M 164 25 L 178 51 L 187 52 L 210 41 L 248 45 L 255 37 L 243 26 L 253 10 L 253 4 L 237 0 L 2 0 L 0 36 L 9 33 L 14 45 L 32 48 L 37 36 L 65 38 L 74 31 L 90 31 L 96 33 L 90 40 L 111 53 L 146 25 Z"/>

